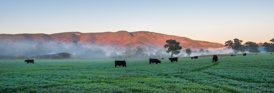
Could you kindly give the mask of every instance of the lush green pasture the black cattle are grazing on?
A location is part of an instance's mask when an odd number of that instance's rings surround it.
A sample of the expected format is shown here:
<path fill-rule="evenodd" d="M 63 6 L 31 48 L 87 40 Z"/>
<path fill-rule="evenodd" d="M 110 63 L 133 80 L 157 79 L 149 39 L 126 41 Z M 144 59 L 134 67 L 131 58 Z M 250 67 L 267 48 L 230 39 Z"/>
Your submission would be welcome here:
<path fill-rule="evenodd" d="M 0 60 L 0 92 L 28 93 L 273 93 L 274 55 L 180 58 L 149 64 L 148 59 Z M 119 59 L 122 60 L 122 59 Z"/>

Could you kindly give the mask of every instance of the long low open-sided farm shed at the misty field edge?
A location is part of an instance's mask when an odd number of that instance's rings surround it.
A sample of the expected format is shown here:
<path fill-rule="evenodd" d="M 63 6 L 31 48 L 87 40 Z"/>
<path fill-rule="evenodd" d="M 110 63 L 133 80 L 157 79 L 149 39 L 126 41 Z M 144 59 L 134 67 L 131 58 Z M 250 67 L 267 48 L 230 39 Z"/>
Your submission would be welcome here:
<path fill-rule="evenodd" d="M 63 53 L 51 52 L 51 53 L 46 53 L 46 54 L 40 54 L 39 58 L 40 58 L 40 56 L 42 58 L 53 58 L 53 57 L 56 57 L 56 56 L 57 57 L 63 57 L 63 58 L 70 58 L 71 54 L 65 53 L 65 52 L 63 52 Z"/>

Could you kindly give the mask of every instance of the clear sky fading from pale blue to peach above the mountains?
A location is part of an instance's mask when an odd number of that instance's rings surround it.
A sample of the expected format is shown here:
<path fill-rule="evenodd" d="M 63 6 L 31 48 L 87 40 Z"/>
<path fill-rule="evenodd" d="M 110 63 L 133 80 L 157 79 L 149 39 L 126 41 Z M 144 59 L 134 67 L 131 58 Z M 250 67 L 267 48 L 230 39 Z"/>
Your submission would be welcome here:
<path fill-rule="evenodd" d="M 0 34 L 120 30 L 264 43 L 274 38 L 274 0 L 0 0 Z"/>

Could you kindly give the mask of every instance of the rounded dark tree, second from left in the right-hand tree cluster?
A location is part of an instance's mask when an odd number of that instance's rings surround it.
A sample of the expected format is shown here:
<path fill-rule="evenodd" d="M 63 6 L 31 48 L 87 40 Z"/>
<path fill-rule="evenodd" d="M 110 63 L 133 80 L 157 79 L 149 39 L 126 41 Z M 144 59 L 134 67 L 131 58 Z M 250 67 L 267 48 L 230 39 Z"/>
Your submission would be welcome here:
<path fill-rule="evenodd" d="M 255 42 L 246 42 L 246 50 L 250 53 L 259 53 L 261 51 L 259 51 L 259 45 L 256 44 Z"/>

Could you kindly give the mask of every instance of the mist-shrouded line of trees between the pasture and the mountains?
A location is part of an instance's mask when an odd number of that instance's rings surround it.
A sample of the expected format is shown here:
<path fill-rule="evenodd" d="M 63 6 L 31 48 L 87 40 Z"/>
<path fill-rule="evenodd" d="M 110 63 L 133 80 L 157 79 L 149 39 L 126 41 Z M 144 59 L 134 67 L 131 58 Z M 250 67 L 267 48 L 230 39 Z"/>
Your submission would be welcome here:
<path fill-rule="evenodd" d="M 258 50 L 259 45 L 264 47 L 266 52 L 274 52 L 274 38 L 270 40 L 270 43 L 260 43 L 256 44 L 255 42 L 246 42 L 242 44 L 242 40 L 237 38 L 229 40 L 225 43 L 225 46 L 232 48 L 234 53 L 248 51 L 250 53 L 260 52 Z M 66 52 L 72 54 L 72 58 L 170 58 L 173 55 L 177 57 L 185 57 L 184 53 L 181 53 L 182 47 L 179 46 L 179 42 L 176 40 L 167 40 L 167 44 L 164 45 L 162 49 L 152 49 L 149 47 L 137 46 L 135 49 L 121 49 L 121 48 L 109 48 L 105 50 L 96 48 L 96 47 L 82 47 L 81 44 L 78 44 L 77 41 L 72 41 L 71 45 L 65 47 L 62 43 L 58 42 L 56 44 L 43 44 L 38 42 L 35 47 L 22 47 L 15 48 L 12 45 L 0 43 L 0 58 L 38 58 L 39 54 L 46 54 L 50 52 Z M 182 50 L 185 52 L 186 56 L 190 57 L 192 53 L 200 53 L 200 55 L 209 54 L 211 51 L 200 49 L 199 51 L 192 51 L 190 48 Z M 166 52 L 166 53 L 164 53 Z M 181 54 L 179 54 L 181 53 Z M 214 52 L 217 53 L 217 52 Z M 219 51 L 218 53 L 223 54 L 224 52 Z"/>

